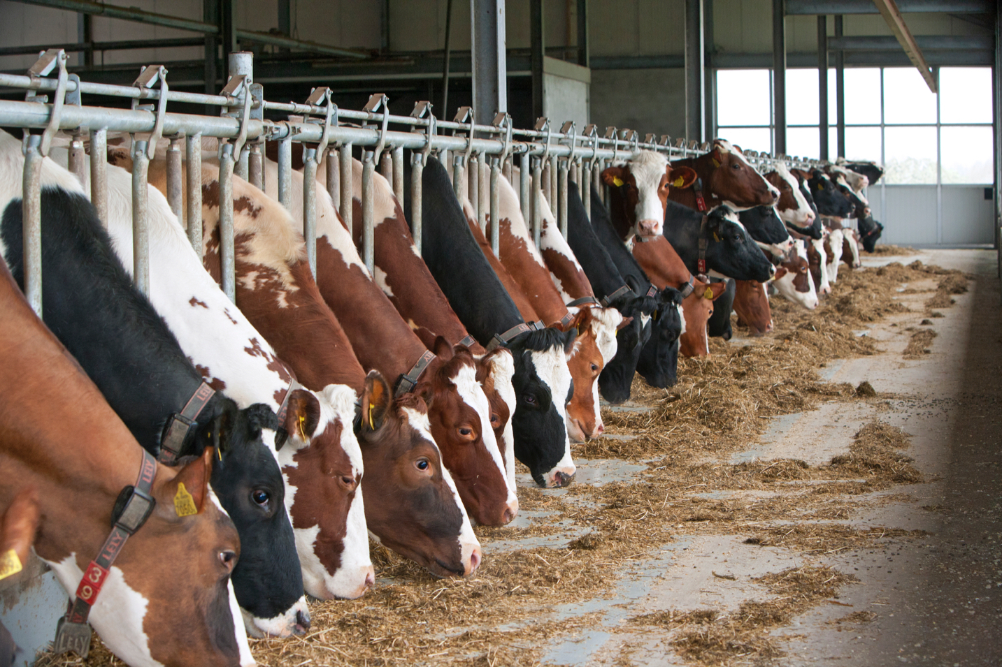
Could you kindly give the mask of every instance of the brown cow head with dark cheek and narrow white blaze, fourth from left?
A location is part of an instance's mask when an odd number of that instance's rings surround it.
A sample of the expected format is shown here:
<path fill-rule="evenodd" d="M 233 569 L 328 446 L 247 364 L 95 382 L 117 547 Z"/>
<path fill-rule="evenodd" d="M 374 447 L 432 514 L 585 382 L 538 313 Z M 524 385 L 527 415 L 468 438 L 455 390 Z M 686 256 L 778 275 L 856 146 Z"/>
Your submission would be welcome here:
<path fill-rule="evenodd" d="M 383 377 L 370 372 L 357 433 L 372 536 L 436 576 L 473 574 L 480 543 L 442 465 L 424 400 L 415 394 L 393 399 Z"/>

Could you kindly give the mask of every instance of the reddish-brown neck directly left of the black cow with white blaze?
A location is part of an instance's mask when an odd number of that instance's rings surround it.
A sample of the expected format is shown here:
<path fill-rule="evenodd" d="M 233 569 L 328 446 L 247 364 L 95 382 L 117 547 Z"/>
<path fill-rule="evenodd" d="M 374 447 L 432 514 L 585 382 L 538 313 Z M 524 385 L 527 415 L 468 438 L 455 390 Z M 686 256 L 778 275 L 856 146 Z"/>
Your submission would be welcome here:
<path fill-rule="evenodd" d="M 358 160 L 355 163 L 361 164 Z M 380 181 L 380 184 L 383 182 Z M 384 196 L 379 201 L 385 204 L 388 199 Z M 382 271 L 381 280 L 385 284 L 380 286 L 405 320 L 444 337 L 452 345 L 472 342 L 472 345 L 467 345 L 472 348 L 471 352 L 483 354 L 483 348 L 469 336 L 428 266 L 418 255 L 400 204 L 396 199 L 389 200 L 394 204 L 392 212 L 375 212 L 376 219 L 383 216 L 382 221 L 376 224 L 374 233 L 375 265 L 378 271 Z M 352 199 L 352 226 L 355 246 L 361 251 L 362 201 L 358 198 Z"/>

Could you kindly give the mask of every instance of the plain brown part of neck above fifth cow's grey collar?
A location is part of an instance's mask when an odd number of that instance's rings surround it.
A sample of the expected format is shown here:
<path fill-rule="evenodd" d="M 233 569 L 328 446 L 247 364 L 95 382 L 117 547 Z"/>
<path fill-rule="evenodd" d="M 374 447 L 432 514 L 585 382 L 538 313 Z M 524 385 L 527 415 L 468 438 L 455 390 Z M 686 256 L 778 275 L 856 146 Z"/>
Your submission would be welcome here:
<path fill-rule="evenodd" d="M 363 369 L 400 378 L 428 351 L 383 290 L 362 267 L 346 263 L 326 236 L 317 239 L 317 286 Z"/>

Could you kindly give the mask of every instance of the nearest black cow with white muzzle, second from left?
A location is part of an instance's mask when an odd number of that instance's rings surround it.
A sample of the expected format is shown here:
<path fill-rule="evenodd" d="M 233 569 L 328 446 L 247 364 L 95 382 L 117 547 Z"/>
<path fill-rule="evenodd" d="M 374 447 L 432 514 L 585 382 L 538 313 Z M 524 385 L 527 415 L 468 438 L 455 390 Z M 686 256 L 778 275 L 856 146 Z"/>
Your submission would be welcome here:
<path fill-rule="evenodd" d="M 12 157 L 11 151 L 3 157 Z M 232 574 L 236 599 L 263 619 L 259 625 L 270 634 L 305 634 L 310 616 L 282 474 L 262 442 L 263 427 L 279 428 L 275 414 L 262 404 L 237 410 L 202 383 L 132 284 L 89 201 L 78 192 L 46 188 L 42 206 L 46 324 L 147 452 L 173 465 L 179 457 L 215 448 L 219 464 L 212 471 L 212 490 L 235 524 L 244 554 Z M 4 207 L 0 238 L 4 259 L 23 284 L 19 201 Z M 198 408 L 188 412 L 189 405 Z"/>

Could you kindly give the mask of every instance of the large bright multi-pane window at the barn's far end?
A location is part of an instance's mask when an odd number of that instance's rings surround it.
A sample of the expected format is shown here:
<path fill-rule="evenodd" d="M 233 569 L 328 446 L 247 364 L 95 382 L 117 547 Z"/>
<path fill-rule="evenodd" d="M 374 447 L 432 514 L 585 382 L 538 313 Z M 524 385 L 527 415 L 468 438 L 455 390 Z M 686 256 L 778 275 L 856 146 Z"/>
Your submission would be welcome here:
<path fill-rule="evenodd" d="M 846 157 L 881 162 L 888 184 L 993 182 L 989 67 L 943 67 L 940 94 L 913 67 L 847 68 Z M 829 70 L 829 151 L 836 153 L 835 70 Z M 773 152 L 772 71 L 718 70 L 717 136 Z M 818 70 L 787 70 L 787 152 L 821 153 Z"/>

